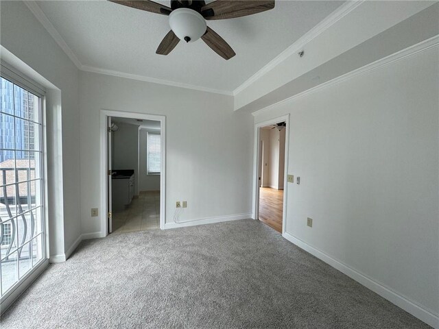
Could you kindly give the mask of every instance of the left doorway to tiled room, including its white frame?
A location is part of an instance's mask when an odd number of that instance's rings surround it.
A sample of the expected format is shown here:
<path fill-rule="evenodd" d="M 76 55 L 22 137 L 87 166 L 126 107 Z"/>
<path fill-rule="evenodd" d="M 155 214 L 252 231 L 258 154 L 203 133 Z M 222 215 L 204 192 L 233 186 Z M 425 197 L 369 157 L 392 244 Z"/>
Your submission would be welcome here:
<path fill-rule="evenodd" d="M 102 235 L 163 228 L 165 118 L 102 110 L 101 131 Z"/>

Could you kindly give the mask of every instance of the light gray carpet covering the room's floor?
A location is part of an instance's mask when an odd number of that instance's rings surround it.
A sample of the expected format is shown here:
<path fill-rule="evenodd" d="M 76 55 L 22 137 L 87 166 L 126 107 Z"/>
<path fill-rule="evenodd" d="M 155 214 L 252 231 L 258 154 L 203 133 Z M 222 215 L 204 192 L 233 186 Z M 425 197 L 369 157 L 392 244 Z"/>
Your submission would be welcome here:
<path fill-rule="evenodd" d="M 429 328 L 259 221 L 83 241 L 1 328 Z"/>

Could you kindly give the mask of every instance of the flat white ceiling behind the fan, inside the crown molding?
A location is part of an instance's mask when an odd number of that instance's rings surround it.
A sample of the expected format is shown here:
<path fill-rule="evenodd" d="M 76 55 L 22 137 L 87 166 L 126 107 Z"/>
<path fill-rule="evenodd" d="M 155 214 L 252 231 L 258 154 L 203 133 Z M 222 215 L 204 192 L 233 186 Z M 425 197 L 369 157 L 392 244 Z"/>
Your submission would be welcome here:
<path fill-rule="evenodd" d="M 180 42 L 168 56 L 156 55 L 169 32 L 167 16 L 108 1 L 37 3 L 82 66 L 230 92 L 343 1 L 276 1 L 268 12 L 208 21 L 237 53 L 228 61 L 201 39 Z"/>

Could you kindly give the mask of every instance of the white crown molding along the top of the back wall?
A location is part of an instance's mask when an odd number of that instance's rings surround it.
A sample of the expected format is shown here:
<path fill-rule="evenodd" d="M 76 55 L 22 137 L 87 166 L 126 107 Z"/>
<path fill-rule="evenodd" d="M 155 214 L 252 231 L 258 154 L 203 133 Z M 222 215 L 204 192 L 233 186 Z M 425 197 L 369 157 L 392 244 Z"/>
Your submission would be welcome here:
<path fill-rule="evenodd" d="M 186 89 L 192 89 L 192 90 L 199 90 L 199 91 L 204 91 L 204 92 L 207 92 L 207 93 L 215 93 L 215 94 L 222 94 L 222 95 L 233 96 L 233 93 L 231 91 L 227 91 L 227 90 L 219 90 L 219 89 L 207 88 L 207 87 L 202 87 L 202 86 L 195 86 L 193 84 L 183 84 L 181 82 L 174 82 L 174 81 L 169 81 L 169 80 L 156 79 L 155 77 L 147 77 L 145 75 L 123 73 L 123 72 L 112 71 L 112 70 L 107 70 L 107 69 L 99 69 L 98 67 L 94 67 L 94 66 L 82 65 L 81 66 L 81 71 L 86 71 L 86 72 L 91 72 L 91 73 L 99 73 L 99 74 L 104 74 L 104 75 L 112 75 L 112 76 L 115 76 L 115 77 L 124 77 L 126 79 L 131 79 L 131 80 L 139 80 L 139 81 L 144 81 L 144 82 L 152 82 L 153 84 L 164 84 L 166 86 L 186 88 Z"/>

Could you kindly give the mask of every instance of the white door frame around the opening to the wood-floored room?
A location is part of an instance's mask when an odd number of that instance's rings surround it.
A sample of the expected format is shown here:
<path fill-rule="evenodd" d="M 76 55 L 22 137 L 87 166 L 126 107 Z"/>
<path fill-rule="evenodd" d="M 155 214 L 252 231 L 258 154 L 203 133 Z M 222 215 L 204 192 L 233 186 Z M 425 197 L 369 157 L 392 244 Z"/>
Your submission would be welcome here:
<path fill-rule="evenodd" d="M 252 219 L 259 219 L 259 143 L 261 143 L 261 127 L 266 125 L 275 125 L 278 122 L 285 121 L 285 168 L 283 177 L 283 211 L 282 211 L 282 234 L 287 230 L 287 191 L 288 191 L 288 154 L 289 154 L 289 114 L 276 117 L 267 121 L 254 123 L 254 141 L 253 141 L 253 192 L 252 192 Z"/>

